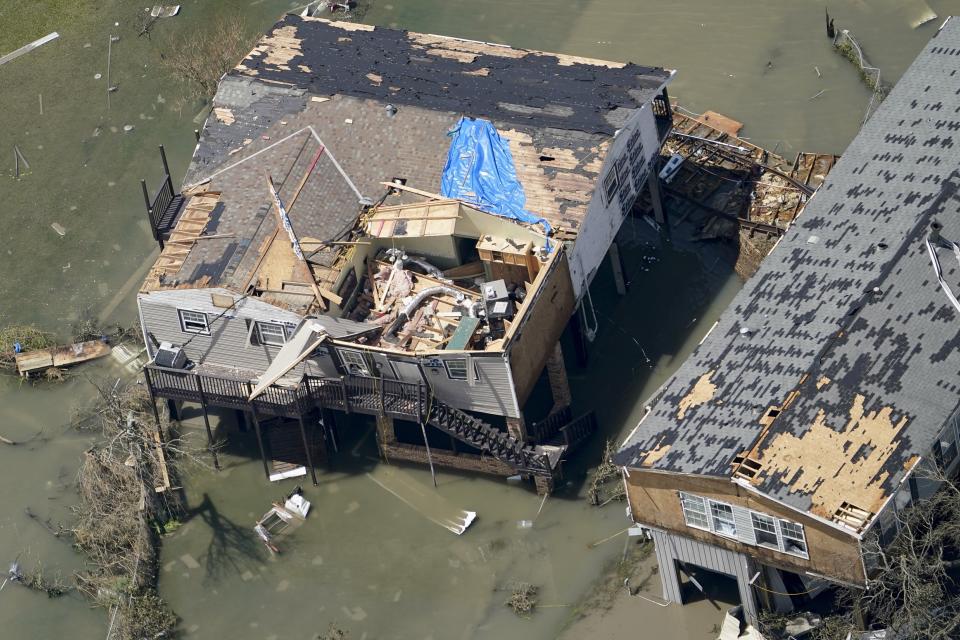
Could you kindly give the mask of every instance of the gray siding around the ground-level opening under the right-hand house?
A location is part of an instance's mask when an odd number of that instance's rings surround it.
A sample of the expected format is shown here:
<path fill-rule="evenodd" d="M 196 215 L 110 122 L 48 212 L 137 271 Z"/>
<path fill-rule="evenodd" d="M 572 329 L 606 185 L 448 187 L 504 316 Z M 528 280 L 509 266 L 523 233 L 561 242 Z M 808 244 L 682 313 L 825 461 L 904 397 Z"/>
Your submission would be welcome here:
<path fill-rule="evenodd" d="M 757 609 L 750 588 L 751 576 L 747 556 L 666 531 L 650 529 L 650 533 L 653 536 L 657 563 L 660 566 L 660 581 L 663 585 L 665 600 L 683 603 L 680 578 L 675 564 L 679 560 L 685 564 L 696 565 L 735 578 L 744 611 L 751 618 L 756 616 Z"/>

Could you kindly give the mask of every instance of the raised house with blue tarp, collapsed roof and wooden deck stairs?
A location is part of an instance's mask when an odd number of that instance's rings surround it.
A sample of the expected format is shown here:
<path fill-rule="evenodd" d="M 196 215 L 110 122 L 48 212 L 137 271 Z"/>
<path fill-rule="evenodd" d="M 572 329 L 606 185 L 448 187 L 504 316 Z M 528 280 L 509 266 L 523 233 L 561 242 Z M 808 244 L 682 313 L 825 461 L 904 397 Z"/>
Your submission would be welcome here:
<path fill-rule="evenodd" d="M 251 414 L 274 477 L 292 421 L 309 454 L 336 409 L 377 415 L 389 458 L 548 490 L 592 426 L 558 340 L 655 178 L 671 77 L 285 17 L 222 79 L 182 193 L 147 199 L 152 392 Z M 545 371 L 553 410 L 525 415 Z"/>

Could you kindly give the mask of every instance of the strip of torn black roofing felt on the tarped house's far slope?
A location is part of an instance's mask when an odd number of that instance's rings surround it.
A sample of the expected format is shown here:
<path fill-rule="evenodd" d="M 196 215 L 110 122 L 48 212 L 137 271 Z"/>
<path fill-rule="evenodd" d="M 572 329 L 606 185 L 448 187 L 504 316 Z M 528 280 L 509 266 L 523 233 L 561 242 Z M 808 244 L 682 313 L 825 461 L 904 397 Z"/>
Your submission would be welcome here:
<path fill-rule="evenodd" d="M 230 75 L 612 136 L 670 72 L 287 15 Z"/>

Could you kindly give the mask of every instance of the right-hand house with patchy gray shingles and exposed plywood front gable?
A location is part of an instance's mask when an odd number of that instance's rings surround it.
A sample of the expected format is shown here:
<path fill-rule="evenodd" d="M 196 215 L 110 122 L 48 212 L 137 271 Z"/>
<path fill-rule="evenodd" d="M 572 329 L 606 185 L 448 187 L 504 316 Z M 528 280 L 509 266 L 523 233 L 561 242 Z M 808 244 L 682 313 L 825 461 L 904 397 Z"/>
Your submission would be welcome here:
<path fill-rule="evenodd" d="M 750 615 L 863 587 L 956 466 L 958 70 L 951 19 L 616 454 L 668 600 L 678 570 Z"/>

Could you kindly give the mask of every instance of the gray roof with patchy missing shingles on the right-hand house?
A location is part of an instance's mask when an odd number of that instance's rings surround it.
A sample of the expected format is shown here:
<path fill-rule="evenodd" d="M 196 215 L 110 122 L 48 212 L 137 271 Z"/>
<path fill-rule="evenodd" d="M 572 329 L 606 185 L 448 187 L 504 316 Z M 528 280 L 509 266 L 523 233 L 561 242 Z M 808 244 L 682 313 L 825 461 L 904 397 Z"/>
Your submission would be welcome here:
<path fill-rule="evenodd" d="M 960 314 L 926 249 L 960 240 L 960 20 L 930 41 L 618 464 L 729 477 L 875 514 L 960 399 Z M 960 265 L 943 250 L 943 278 Z"/>

